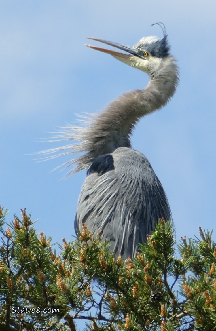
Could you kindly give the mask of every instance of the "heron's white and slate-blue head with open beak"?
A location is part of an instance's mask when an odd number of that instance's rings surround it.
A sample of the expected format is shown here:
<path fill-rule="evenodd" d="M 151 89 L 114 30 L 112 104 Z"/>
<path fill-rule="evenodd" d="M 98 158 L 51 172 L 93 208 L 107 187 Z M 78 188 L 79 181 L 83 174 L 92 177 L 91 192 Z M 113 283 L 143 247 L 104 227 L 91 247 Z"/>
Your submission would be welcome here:
<path fill-rule="evenodd" d="M 126 63 L 129 66 L 135 67 L 148 74 L 153 74 L 160 68 L 163 59 L 167 58 L 170 53 L 170 47 L 167 41 L 167 35 L 163 38 L 144 37 L 139 40 L 133 47 L 124 46 L 111 41 L 88 37 L 88 39 L 96 40 L 104 44 L 121 49 L 126 53 L 120 53 L 115 50 L 86 45 L 87 47 L 96 49 L 98 51 L 108 53 L 117 60 Z M 127 54 L 128 53 L 128 54 Z"/>

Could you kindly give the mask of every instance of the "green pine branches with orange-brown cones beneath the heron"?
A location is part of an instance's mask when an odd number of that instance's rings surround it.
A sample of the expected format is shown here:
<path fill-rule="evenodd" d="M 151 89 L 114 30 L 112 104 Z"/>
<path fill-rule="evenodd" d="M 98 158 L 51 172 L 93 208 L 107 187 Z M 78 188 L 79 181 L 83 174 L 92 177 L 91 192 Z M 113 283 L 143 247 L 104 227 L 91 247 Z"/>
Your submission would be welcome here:
<path fill-rule="evenodd" d="M 210 233 L 178 250 L 172 222 L 160 219 L 133 260 L 83 226 L 60 256 L 22 211 L 3 229 L 0 209 L 0 331 L 216 330 L 216 244 Z M 19 309 L 18 309 L 19 307 Z"/>

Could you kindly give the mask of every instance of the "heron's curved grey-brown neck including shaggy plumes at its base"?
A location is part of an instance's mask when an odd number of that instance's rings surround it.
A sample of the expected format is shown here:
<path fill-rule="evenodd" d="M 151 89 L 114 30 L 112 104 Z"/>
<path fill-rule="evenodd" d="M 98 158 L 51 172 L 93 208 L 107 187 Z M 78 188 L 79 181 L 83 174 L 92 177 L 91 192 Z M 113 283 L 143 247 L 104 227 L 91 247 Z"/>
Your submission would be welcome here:
<path fill-rule="evenodd" d="M 164 106 L 173 96 L 178 84 L 178 67 L 170 57 L 167 65 L 157 72 L 149 73 L 149 83 L 143 90 L 134 90 L 121 95 L 87 127 L 73 127 L 72 139 L 81 143 L 71 147 L 72 152 L 87 152 L 69 164 L 77 164 L 75 171 L 87 168 L 102 154 L 112 153 L 116 148 L 131 147 L 130 135 L 137 121 L 146 114 Z M 69 135 L 69 133 L 68 133 Z"/>

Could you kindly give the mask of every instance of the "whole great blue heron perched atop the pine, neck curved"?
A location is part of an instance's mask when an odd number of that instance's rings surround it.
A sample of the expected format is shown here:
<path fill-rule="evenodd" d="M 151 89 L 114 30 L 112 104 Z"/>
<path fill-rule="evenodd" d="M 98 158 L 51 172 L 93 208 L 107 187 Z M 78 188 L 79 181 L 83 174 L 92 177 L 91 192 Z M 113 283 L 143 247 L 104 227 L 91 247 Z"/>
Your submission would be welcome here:
<path fill-rule="evenodd" d="M 82 152 L 64 164 L 75 165 L 72 172 L 87 169 L 75 231 L 81 233 L 85 224 L 94 235 L 100 233 L 102 241 L 109 241 L 109 250 L 116 258 L 134 258 L 138 244 L 146 241 L 157 221 L 162 217 L 172 219 L 162 184 L 147 158 L 132 149 L 130 140 L 139 119 L 165 106 L 179 81 L 177 60 L 170 53 L 165 26 L 156 24 L 161 26 L 163 37 L 143 37 L 133 47 L 87 37 L 115 50 L 87 47 L 147 73 L 149 82 L 144 89 L 122 94 L 101 113 L 81 119 L 82 126 L 68 125 L 58 136 L 78 143 L 47 151 L 60 152 L 58 156 Z"/>

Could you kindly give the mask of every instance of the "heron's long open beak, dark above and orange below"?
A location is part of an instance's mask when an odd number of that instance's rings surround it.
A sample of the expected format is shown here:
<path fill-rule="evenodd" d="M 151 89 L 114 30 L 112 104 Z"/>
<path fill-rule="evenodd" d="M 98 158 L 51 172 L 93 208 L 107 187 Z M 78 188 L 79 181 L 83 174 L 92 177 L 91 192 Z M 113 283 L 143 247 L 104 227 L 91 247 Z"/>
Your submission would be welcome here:
<path fill-rule="evenodd" d="M 124 46 L 124 45 L 121 45 L 121 44 L 117 44 L 117 43 L 114 43 L 114 42 L 111 42 L 111 41 L 107 41 L 107 40 L 103 40 L 103 39 L 98 39 L 98 38 L 87 37 L 87 39 L 96 40 L 96 41 L 102 42 L 103 44 L 107 44 L 107 45 L 110 45 L 112 47 L 119 48 L 119 49 L 121 49 L 121 50 L 123 50 L 125 52 L 130 53 L 131 55 L 120 53 L 120 52 L 116 52 L 116 51 L 113 51 L 113 50 L 110 50 L 110 49 L 105 49 L 105 48 L 100 48 L 100 47 L 85 45 L 85 46 L 90 47 L 92 49 L 96 49 L 97 51 L 100 51 L 100 52 L 103 52 L 103 53 L 107 53 L 107 54 L 113 55 L 115 57 L 124 58 L 124 59 L 127 59 L 127 60 L 130 60 L 134 56 L 140 57 L 138 55 L 138 50 L 136 48 L 129 47 L 129 46 Z"/>

